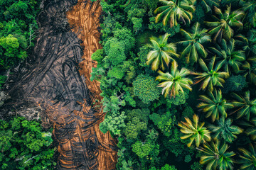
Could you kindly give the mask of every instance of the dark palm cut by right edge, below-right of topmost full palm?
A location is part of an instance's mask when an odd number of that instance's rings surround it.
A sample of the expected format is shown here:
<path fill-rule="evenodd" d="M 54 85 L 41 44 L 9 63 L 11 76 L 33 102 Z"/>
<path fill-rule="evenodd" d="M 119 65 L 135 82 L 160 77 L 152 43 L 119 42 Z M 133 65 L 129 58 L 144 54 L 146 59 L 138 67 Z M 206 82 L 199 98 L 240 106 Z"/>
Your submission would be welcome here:
<path fill-rule="evenodd" d="M 236 41 L 238 45 L 242 45 L 242 50 L 246 52 L 246 55 L 249 56 L 250 54 L 256 54 L 256 30 L 250 30 L 248 35 L 237 35 Z"/>

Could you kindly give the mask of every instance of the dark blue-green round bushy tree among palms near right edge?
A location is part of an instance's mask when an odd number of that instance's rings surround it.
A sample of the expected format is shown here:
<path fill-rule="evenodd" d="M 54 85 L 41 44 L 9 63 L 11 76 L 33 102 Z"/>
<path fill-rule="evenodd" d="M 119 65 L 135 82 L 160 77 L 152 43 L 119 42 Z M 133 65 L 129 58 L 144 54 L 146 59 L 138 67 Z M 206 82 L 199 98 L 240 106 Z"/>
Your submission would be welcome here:
<path fill-rule="evenodd" d="M 225 81 L 223 86 L 223 94 L 228 94 L 229 92 L 242 91 L 242 89 L 246 88 L 247 82 L 245 77 L 238 75 L 232 76 Z"/>

